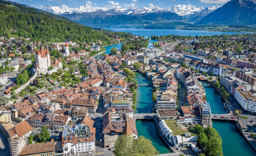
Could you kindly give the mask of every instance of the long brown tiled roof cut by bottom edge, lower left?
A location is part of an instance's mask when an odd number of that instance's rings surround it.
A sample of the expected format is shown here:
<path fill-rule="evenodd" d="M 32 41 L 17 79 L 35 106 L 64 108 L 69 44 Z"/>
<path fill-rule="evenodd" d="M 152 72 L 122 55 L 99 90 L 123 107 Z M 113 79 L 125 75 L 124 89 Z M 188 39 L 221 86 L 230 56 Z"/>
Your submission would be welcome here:
<path fill-rule="evenodd" d="M 54 142 L 46 142 L 46 143 L 37 143 L 25 145 L 21 150 L 19 156 L 22 155 L 31 155 L 37 153 L 46 153 L 55 151 Z"/>

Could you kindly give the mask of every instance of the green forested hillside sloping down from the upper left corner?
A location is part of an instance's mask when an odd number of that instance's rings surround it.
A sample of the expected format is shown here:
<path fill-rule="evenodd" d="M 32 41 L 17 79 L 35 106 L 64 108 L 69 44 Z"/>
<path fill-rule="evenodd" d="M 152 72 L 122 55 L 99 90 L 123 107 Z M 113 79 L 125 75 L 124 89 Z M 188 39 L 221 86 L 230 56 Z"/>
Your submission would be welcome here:
<path fill-rule="evenodd" d="M 60 17 L 63 19 L 63 17 Z M 65 39 L 72 41 L 96 42 L 111 44 L 113 37 L 130 38 L 132 35 L 123 32 L 93 30 L 90 27 L 59 19 L 58 15 L 51 15 L 44 11 L 21 5 L 11 5 L 0 0 L 0 35 L 8 36 L 8 29 L 17 29 L 11 32 L 31 40 L 42 42 L 60 42 Z M 65 18 L 66 19 L 66 18 Z"/>

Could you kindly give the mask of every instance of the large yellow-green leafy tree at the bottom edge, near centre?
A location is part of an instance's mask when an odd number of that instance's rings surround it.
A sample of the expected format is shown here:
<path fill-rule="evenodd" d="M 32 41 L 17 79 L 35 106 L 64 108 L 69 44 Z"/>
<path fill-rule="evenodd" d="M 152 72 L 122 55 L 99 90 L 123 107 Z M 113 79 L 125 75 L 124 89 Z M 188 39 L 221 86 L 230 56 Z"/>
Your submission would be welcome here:
<path fill-rule="evenodd" d="M 134 139 L 131 135 L 121 135 L 115 142 L 116 156 L 155 156 L 159 152 L 149 139 L 139 136 Z"/>

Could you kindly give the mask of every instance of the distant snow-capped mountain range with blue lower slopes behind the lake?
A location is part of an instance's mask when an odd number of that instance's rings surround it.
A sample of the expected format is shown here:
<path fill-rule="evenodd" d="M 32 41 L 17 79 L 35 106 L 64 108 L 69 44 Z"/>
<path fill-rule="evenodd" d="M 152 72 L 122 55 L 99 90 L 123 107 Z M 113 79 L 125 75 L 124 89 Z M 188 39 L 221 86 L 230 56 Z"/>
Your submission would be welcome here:
<path fill-rule="evenodd" d="M 161 7 L 93 7 L 88 4 L 77 8 L 66 5 L 46 5 L 40 9 L 57 15 L 67 17 L 72 21 L 90 27 L 136 27 L 136 28 L 166 28 L 173 29 L 177 25 L 191 25 L 195 21 L 219 8 L 195 7 L 192 5 L 177 5 L 163 9 Z"/>

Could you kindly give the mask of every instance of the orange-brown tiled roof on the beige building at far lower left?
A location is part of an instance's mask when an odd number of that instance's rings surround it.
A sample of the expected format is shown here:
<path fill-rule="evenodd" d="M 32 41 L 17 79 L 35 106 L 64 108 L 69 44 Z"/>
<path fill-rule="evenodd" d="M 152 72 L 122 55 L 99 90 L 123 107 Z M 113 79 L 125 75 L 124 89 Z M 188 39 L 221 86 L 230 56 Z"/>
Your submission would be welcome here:
<path fill-rule="evenodd" d="M 13 135 L 18 135 L 18 137 L 21 137 L 25 134 L 27 134 L 29 131 L 31 131 L 33 127 L 30 126 L 30 124 L 27 121 L 22 121 L 16 126 L 12 127 L 11 130 L 9 130 L 10 137 Z"/>

